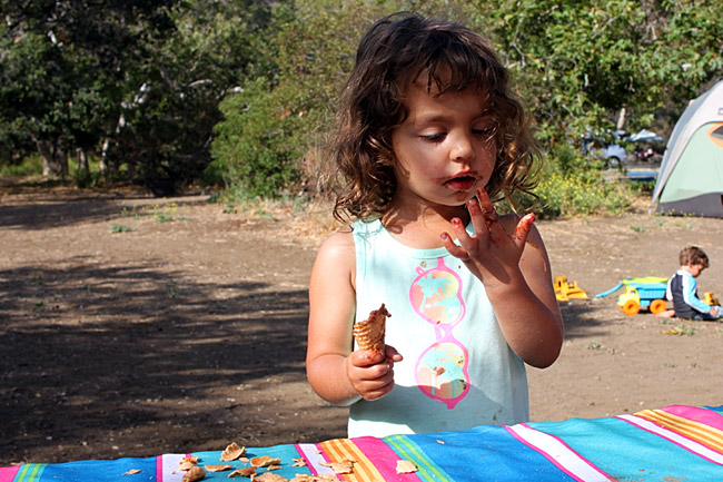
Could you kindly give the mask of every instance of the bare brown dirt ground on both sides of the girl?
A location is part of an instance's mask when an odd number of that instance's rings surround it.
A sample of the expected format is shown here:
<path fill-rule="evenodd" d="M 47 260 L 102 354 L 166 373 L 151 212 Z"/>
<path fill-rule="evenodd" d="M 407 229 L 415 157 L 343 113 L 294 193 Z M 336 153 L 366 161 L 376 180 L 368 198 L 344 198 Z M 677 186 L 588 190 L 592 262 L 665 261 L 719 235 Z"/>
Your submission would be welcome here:
<path fill-rule="evenodd" d="M 304 371 L 326 209 L 207 199 L 0 186 L 0 466 L 345 435 Z M 670 276 L 685 244 L 711 258 L 701 289 L 723 295 L 723 219 L 537 226 L 552 275 L 591 298 Z M 563 353 L 529 371 L 532 419 L 723 403 L 723 324 L 626 316 L 617 294 L 562 303 Z"/>

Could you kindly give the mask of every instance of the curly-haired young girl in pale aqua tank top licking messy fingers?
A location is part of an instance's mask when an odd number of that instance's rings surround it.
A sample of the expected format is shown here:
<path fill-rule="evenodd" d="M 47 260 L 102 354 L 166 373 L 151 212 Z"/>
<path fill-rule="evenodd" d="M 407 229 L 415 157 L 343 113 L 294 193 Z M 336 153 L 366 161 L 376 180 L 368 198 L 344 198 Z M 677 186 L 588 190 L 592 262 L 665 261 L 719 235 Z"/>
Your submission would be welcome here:
<path fill-rule="evenodd" d="M 477 35 L 398 13 L 360 42 L 343 94 L 345 190 L 310 286 L 307 374 L 350 405 L 349 436 L 528 420 L 527 363 L 551 365 L 563 321 L 534 215 L 491 201 L 532 186 L 534 149 L 508 75 Z M 386 351 L 354 351 L 382 303 Z"/>

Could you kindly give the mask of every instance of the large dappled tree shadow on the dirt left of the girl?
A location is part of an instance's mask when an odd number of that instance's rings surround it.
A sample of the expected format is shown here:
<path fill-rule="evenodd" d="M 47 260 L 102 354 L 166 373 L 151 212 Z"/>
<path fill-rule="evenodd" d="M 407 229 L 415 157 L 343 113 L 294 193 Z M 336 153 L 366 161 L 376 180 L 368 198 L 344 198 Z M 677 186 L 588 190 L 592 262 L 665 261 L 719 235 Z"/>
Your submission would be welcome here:
<path fill-rule="evenodd" d="M 0 465 L 326 437 L 315 395 L 284 400 L 306 383 L 306 291 L 75 262 L 0 272 Z"/>

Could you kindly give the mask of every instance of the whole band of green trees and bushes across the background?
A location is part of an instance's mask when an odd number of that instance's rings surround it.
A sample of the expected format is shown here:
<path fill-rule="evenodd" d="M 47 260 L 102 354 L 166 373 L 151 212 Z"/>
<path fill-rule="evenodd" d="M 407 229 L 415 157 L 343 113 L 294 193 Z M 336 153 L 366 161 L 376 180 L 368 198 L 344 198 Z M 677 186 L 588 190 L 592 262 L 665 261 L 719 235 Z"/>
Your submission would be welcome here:
<path fill-rule="evenodd" d="M 647 187 L 603 180 L 602 164 L 577 154 L 581 135 L 614 129 L 622 109 L 628 131 L 667 134 L 723 73 L 716 2 L 0 0 L 0 166 L 39 153 L 82 186 L 202 176 L 230 197 L 300 191 L 319 177 L 359 39 L 398 10 L 491 38 L 553 153 L 536 191 L 546 216 L 627 209 Z M 98 170 L 69 169 L 76 149 Z"/>

